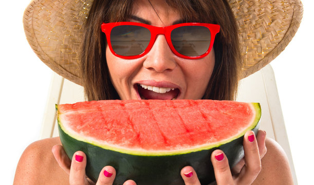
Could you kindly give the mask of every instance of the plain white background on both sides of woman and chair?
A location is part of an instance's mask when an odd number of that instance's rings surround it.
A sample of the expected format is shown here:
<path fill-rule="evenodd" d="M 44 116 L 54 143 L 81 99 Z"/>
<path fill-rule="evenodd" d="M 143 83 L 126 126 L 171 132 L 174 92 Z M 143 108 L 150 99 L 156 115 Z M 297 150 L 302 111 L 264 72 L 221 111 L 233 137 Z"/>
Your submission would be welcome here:
<path fill-rule="evenodd" d="M 39 139 L 52 75 L 25 39 L 22 17 L 28 3 L 28 0 L 6 1 L 0 11 L 1 184 L 12 184 L 22 152 Z M 309 184 L 314 172 L 314 2 L 303 0 L 303 5 L 298 33 L 271 64 L 298 182 Z"/>

